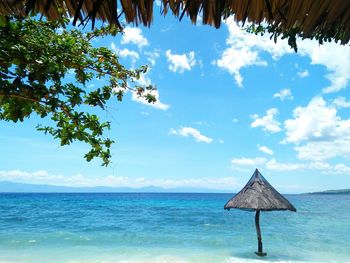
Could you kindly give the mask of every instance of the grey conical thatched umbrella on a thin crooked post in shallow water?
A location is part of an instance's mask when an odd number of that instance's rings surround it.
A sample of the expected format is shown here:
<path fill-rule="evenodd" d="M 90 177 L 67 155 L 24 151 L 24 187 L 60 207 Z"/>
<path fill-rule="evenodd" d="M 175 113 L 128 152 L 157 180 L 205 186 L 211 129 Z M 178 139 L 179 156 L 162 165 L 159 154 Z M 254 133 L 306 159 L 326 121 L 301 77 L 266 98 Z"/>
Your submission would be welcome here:
<path fill-rule="evenodd" d="M 248 211 L 256 211 L 255 213 L 255 227 L 258 236 L 258 256 L 266 256 L 262 249 L 262 239 L 260 231 L 260 211 L 274 211 L 274 210 L 290 210 L 295 212 L 295 207 L 276 191 L 272 185 L 261 175 L 258 169 L 255 170 L 253 176 L 243 189 L 230 199 L 225 207 L 239 208 Z"/>

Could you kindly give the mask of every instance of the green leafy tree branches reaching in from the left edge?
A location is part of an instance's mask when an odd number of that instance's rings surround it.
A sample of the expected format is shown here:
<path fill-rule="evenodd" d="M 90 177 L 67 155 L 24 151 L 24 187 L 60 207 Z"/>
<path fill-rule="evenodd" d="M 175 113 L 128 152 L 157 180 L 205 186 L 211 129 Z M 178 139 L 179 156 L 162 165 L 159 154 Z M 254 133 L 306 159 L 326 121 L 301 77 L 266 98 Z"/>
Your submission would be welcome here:
<path fill-rule="evenodd" d="M 127 90 L 152 103 L 154 88 L 137 85 L 147 66 L 127 69 L 112 50 L 92 46 L 94 38 L 119 34 L 120 29 L 111 25 L 83 33 L 68 29 L 68 23 L 64 18 L 0 16 L 0 120 L 22 122 L 33 114 L 50 119 L 50 125 L 36 128 L 61 145 L 88 144 L 86 160 L 99 157 L 107 166 L 113 141 L 104 135 L 110 123 L 90 109 L 106 109 L 109 100 L 121 101 Z M 92 79 L 107 85 L 88 87 Z"/>

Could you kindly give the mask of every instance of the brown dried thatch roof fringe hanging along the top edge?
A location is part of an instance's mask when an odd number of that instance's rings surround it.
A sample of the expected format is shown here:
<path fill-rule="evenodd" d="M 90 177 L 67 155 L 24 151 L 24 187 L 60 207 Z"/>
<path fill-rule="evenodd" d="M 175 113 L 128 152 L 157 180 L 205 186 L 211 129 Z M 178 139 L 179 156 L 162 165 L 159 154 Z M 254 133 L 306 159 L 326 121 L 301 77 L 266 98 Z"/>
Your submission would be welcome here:
<path fill-rule="evenodd" d="M 237 21 L 277 26 L 277 31 L 295 30 L 305 38 L 350 39 L 349 0 L 162 0 L 161 12 L 169 10 L 180 19 L 187 15 L 196 22 L 220 27 L 222 18 L 234 14 Z M 128 23 L 149 26 L 153 18 L 154 0 L 2 0 L 0 15 L 25 15 L 40 12 L 49 19 L 59 17 L 58 7 L 80 20 L 101 19 L 120 26 L 121 15 Z"/>

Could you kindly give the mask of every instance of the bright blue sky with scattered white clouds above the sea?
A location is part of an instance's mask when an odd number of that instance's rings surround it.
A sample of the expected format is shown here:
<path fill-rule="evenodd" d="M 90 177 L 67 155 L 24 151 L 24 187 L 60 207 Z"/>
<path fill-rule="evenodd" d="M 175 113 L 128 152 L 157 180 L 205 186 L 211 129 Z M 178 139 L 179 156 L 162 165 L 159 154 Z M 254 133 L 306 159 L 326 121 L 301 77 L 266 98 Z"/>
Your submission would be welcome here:
<path fill-rule="evenodd" d="M 154 13 L 150 28 L 94 41 L 129 68 L 149 65 L 140 84 L 157 87 L 154 104 L 129 92 L 98 112 L 112 164 L 59 146 L 33 115 L 0 123 L 0 181 L 236 192 L 258 168 L 283 193 L 350 188 L 349 46 L 299 40 L 295 53 L 232 17 L 215 29 Z"/>

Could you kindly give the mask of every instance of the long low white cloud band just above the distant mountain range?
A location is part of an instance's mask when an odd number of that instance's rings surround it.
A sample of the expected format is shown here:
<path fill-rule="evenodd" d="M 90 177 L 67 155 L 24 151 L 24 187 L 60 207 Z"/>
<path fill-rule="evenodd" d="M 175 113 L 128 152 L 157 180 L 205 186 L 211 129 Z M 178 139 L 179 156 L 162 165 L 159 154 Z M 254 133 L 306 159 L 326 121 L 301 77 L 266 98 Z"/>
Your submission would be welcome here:
<path fill-rule="evenodd" d="M 52 175 L 47 171 L 0 171 L 1 181 L 11 181 L 30 184 L 47 184 L 71 187 L 147 187 L 156 186 L 165 189 L 175 187 L 186 188 L 207 188 L 207 189 L 227 189 L 232 190 L 239 184 L 234 177 L 212 177 L 212 178 L 192 178 L 192 179 L 147 179 L 143 177 L 127 177 L 127 176 L 96 176 L 87 177 L 81 174 L 76 175 Z"/>

